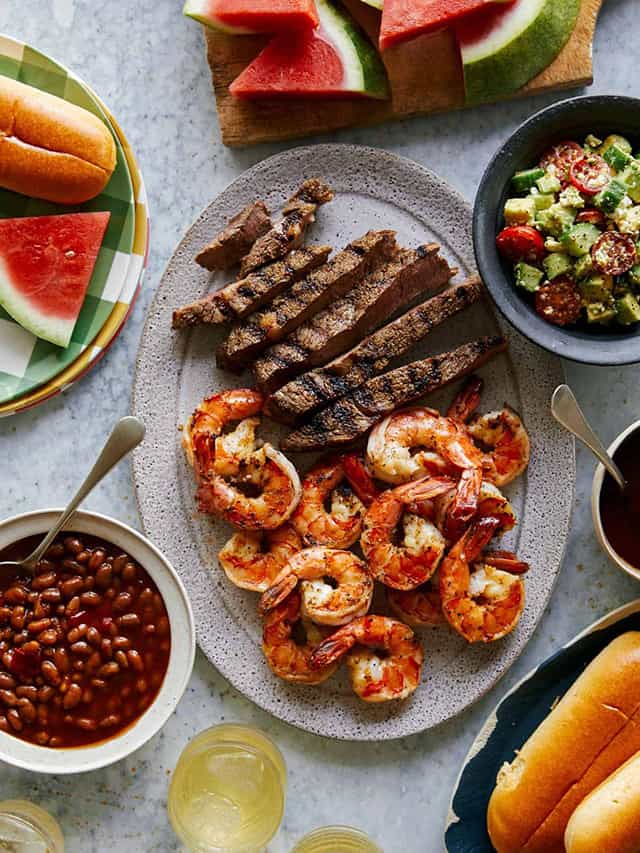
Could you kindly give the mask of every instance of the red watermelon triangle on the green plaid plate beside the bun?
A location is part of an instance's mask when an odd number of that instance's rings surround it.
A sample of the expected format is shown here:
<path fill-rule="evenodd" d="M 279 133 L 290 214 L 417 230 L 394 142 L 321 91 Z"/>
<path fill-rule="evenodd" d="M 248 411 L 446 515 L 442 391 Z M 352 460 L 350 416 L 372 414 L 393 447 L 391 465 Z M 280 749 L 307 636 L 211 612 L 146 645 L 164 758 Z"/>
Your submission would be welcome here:
<path fill-rule="evenodd" d="M 68 347 L 110 213 L 0 219 L 0 305 L 39 338 Z"/>

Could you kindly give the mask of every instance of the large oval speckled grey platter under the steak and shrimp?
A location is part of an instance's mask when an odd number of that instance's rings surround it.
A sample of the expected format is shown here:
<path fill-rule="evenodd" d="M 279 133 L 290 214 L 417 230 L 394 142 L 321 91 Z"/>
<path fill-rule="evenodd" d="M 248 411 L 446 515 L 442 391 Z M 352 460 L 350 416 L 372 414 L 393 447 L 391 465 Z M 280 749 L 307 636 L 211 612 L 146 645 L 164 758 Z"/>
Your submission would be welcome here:
<path fill-rule="evenodd" d="M 560 362 L 504 329 L 510 351 L 483 368 L 483 407 L 506 400 L 523 415 L 533 461 L 509 496 L 519 524 L 509 537 L 532 571 L 528 604 L 517 630 L 504 641 L 469 647 L 447 628 L 424 632 L 424 684 L 402 704 L 366 705 L 344 674 L 322 687 L 298 687 L 277 679 L 260 649 L 256 597 L 233 587 L 216 554 L 230 535 L 221 522 L 198 516 L 194 485 L 180 447 L 178 424 L 207 394 L 247 384 L 220 372 L 214 350 L 223 332 L 171 331 L 176 306 L 204 295 L 223 279 L 211 279 L 193 261 L 225 221 L 255 198 L 273 210 L 312 175 L 324 178 L 336 199 L 319 211 L 310 241 L 341 247 L 369 228 L 393 228 L 406 245 L 435 240 L 459 279 L 473 270 L 471 213 L 451 187 L 427 169 L 385 151 L 320 145 L 292 149 L 241 175 L 202 213 L 177 247 L 150 308 L 138 355 L 133 410 L 147 425 L 135 454 L 134 479 L 143 524 L 184 580 L 196 614 L 198 641 L 209 660 L 239 691 L 282 720 L 317 734 L 349 740 L 383 740 L 423 731 L 458 714 L 486 693 L 520 654 L 540 620 L 560 568 L 573 499 L 573 441 L 549 414 Z M 501 328 L 482 303 L 446 324 L 417 347 L 412 358 L 448 350 Z M 452 390 L 430 402 L 446 405 Z M 277 440 L 267 424 L 263 437 Z M 301 470 L 313 461 L 292 457 Z M 557 472 L 563 471 L 558 477 Z M 505 540 L 506 542 L 507 540 Z"/>

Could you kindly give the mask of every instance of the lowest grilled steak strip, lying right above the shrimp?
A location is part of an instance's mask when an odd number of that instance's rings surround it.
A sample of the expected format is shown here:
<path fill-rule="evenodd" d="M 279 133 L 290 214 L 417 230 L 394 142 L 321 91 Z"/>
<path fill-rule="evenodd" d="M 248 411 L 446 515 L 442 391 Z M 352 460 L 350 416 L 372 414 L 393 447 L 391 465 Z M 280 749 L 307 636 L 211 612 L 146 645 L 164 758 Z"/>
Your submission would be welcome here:
<path fill-rule="evenodd" d="M 322 409 L 309 423 L 289 433 L 281 447 L 303 452 L 351 444 L 395 409 L 467 376 L 506 348 L 504 338 L 480 338 L 451 352 L 376 376 L 350 397 Z"/>

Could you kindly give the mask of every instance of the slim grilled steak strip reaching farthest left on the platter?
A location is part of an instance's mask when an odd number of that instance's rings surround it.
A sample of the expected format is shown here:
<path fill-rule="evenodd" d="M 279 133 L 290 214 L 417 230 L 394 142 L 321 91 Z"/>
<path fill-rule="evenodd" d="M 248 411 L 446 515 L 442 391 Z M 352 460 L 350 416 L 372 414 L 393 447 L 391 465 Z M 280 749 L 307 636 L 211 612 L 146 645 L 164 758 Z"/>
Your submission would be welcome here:
<path fill-rule="evenodd" d="M 316 267 L 331 254 L 331 246 L 305 246 L 294 249 L 286 258 L 249 273 L 240 281 L 209 293 L 203 299 L 173 312 L 173 328 L 227 323 L 246 317 L 270 302 L 279 293 Z"/>

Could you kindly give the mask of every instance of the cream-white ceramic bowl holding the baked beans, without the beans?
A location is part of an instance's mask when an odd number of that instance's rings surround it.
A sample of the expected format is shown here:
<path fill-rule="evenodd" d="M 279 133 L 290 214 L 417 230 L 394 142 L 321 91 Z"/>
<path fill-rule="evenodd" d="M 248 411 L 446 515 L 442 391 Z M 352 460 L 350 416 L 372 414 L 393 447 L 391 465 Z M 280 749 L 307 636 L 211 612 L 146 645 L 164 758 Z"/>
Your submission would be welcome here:
<path fill-rule="evenodd" d="M 0 550 L 26 536 L 45 534 L 60 509 L 44 509 L 17 515 L 0 523 Z M 152 738 L 166 723 L 185 691 L 196 652 L 191 604 L 175 570 L 141 533 L 105 515 L 78 511 L 67 530 L 86 533 L 122 548 L 153 578 L 164 599 L 171 625 L 169 666 L 153 703 L 136 722 L 96 744 L 49 749 L 0 732 L 0 761 L 35 773 L 84 773 L 126 758 Z"/>

